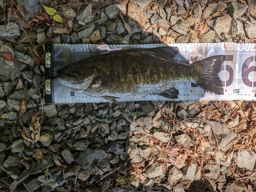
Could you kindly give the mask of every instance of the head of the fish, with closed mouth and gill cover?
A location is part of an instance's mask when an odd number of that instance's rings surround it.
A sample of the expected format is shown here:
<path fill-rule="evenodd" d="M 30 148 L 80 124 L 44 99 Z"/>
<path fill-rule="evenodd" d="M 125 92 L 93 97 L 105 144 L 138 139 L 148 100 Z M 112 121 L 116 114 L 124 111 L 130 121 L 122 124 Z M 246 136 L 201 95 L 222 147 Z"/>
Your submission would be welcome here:
<path fill-rule="evenodd" d="M 90 86 L 96 73 L 96 69 L 93 67 L 83 68 L 81 65 L 71 63 L 58 70 L 57 73 L 59 76 L 54 78 L 55 81 L 63 84 L 63 86 L 81 92 Z"/>

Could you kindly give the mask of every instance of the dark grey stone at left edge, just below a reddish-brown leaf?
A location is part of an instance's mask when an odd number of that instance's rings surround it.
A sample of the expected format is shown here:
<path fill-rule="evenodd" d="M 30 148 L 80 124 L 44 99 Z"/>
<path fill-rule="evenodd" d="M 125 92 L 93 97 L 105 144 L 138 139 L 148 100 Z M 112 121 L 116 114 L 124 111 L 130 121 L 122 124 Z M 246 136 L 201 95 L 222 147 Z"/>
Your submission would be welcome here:
<path fill-rule="evenodd" d="M 16 61 L 16 65 L 10 66 L 7 64 L 7 61 L 3 57 L 0 57 L 0 75 L 3 75 L 5 77 L 15 79 L 22 74 L 21 71 L 25 67 L 26 65 L 18 60 Z"/>

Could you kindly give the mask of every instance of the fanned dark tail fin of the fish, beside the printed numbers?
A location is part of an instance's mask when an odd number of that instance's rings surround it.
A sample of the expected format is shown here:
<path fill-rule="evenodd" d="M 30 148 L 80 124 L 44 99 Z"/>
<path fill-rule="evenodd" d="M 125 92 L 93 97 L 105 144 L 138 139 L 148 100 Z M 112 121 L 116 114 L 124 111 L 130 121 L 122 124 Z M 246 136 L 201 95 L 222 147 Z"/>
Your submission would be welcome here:
<path fill-rule="evenodd" d="M 224 91 L 219 73 L 224 61 L 225 55 L 216 55 L 195 62 L 199 73 L 196 84 L 207 91 L 222 95 Z"/>

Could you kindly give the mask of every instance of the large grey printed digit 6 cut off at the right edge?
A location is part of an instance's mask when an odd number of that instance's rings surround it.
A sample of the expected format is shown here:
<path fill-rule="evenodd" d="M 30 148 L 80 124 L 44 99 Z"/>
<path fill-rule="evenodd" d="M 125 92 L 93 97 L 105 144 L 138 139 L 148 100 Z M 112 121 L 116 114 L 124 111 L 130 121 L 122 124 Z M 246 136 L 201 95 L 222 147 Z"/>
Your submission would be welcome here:
<path fill-rule="evenodd" d="M 256 57 L 254 57 L 254 61 L 255 60 L 256 60 Z M 242 74 L 241 74 L 242 80 L 243 80 L 244 84 L 246 84 L 246 86 L 248 86 L 248 87 L 252 86 L 252 81 L 249 80 L 249 73 L 252 71 L 256 72 L 256 66 L 248 67 L 252 61 L 253 61 L 253 56 L 248 57 L 244 61 L 243 66 L 242 66 Z M 253 82 L 253 87 L 256 87 L 256 81 Z"/>

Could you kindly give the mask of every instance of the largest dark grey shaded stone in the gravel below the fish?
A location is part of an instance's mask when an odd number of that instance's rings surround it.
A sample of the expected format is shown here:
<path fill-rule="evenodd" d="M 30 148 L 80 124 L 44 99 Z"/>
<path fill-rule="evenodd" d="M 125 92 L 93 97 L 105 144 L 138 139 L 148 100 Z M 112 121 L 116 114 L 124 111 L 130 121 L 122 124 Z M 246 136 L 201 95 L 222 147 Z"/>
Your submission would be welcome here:
<path fill-rule="evenodd" d="M 106 157 L 108 157 L 108 154 L 103 150 L 87 148 L 84 151 L 78 152 L 75 162 L 80 164 L 83 169 L 90 172 Z"/>

